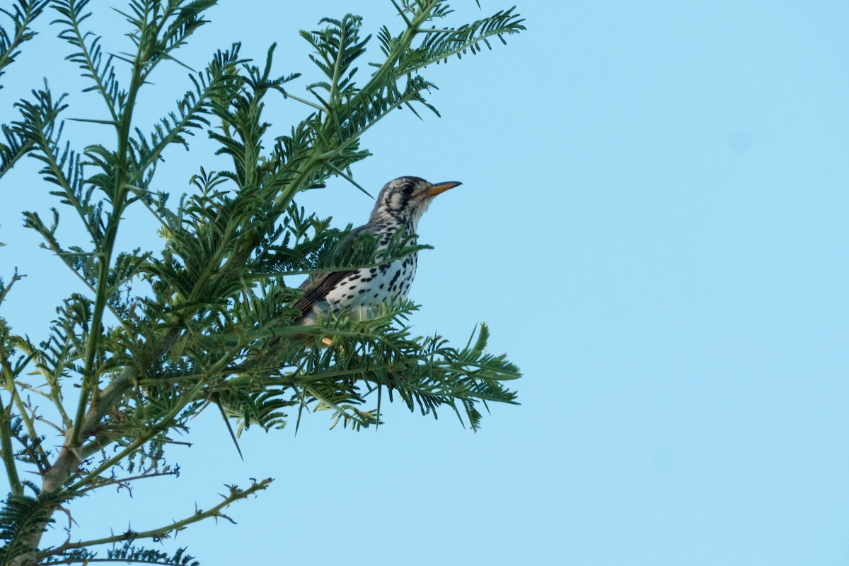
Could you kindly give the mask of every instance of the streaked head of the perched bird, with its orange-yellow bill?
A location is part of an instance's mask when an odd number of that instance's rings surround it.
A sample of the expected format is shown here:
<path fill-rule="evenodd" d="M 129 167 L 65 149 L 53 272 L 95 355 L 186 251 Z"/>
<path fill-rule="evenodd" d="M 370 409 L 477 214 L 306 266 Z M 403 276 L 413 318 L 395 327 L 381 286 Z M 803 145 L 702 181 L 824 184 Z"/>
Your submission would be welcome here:
<path fill-rule="evenodd" d="M 453 180 L 429 183 L 420 177 L 398 177 L 380 190 L 370 221 L 394 219 L 415 229 L 434 197 L 458 185 L 460 183 Z"/>

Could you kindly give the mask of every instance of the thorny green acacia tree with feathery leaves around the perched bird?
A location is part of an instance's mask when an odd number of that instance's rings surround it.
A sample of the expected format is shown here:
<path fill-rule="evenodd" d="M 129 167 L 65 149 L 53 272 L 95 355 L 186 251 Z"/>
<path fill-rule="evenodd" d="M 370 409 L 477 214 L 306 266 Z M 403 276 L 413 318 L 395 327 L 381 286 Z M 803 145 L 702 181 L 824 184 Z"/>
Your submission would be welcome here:
<path fill-rule="evenodd" d="M 130 50 L 102 47 L 87 30 L 88 0 L 16 0 L 4 11 L 11 31 L 0 31 L 0 75 L 34 35 L 33 22 L 53 12 L 69 47 L 59 56 L 82 69 L 87 90 L 103 103 L 104 114 L 89 121 L 115 137 L 87 147 L 65 142 L 65 97 L 46 86 L 17 103 L 18 117 L 2 126 L 0 177 L 28 154 L 57 199 L 50 219 L 23 212 L 25 226 L 87 292 L 65 298 L 37 341 L 0 318 L 0 453 L 10 486 L 0 511 L 0 563 L 196 563 L 184 549 L 169 555 L 140 543 L 221 517 L 271 480 L 233 486 L 208 510 L 143 532 L 81 541 L 69 526 L 53 547 L 42 534 L 77 497 L 174 474 L 164 459 L 171 438 L 207 408 L 222 412 L 235 441 L 252 425 L 282 428 L 287 413 L 301 419 L 304 409 L 329 411 L 333 425 L 378 425 L 381 403 L 393 400 L 423 414 L 449 408 L 474 430 L 481 405 L 514 402 L 504 382 L 518 369 L 486 353 L 485 325 L 464 347 L 413 336 L 404 322 L 416 308 L 410 302 L 385 304 L 362 321 L 291 325 L 299 291 L 284 285 L 284 275 L 376 266 L 421 248 L 398 240 L 378 251 L 374 238 L 346 239 L 346 230 L 307 214 L 295 197 L 332 176 L 357 186 L 351 165 L 368 156 L 363 135 L 396 108 L 436 113 L 425 98 L 434 87 L 425 67 L 524 29 L 513 9 L 452 25 L 441 0 L 390 2 L 398 29 L 381 27 L 376 41 L 351 14 L 301 32 L 318 76 L 306 92 L 287 85 L 298 74 L 272 74 L 273 46 L 255 65 L 237 44 L 192 71 L 194 87 L 175 93 L 171 112 L 148 125 L 133 118 L 145 85 L 160 65 L 182 64 L 175 52 L 207 23 L 215 0 L 128 0 L 121 14 Z M 305 109 L 285 136 L 267 134 L 268 97 Z M 156 165 L 199 130 L 231 165 L 186 172 L 193 191 L 169 197 Z M 162 249 L 116 247 L 134 209 L 159 223 Z M 86 230 L 87 246 L 59 240 L 60 211 L 63 222 L 70 214 Z M 0 303 L 20 285 L 17 272 L 6 275 Z M 50 429 L 64 437 L 61 447 L 44 441 Z"/>

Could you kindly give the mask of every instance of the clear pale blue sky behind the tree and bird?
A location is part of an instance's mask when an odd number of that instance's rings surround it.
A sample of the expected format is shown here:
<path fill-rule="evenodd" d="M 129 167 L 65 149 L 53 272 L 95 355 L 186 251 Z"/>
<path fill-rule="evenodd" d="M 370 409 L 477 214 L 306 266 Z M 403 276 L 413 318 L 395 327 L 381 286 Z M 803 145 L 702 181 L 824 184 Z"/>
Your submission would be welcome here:
<path fill-rule="evenodd" d="M 183 60 L 200 67 L 234 41 L 262 58 L 278 42 L 278 72 L 307 73 L 296 93 L 316 77 L 299 29 L 348 11 L 368 31 L 400 24 L 388 0 L 220 4 Z M 92 3 L 107 5 L 121 2 Z M 454 7 L 456 23 L 481 15 Z M 508 46 L 426 72 L 442 118 L 381 122 L 354 173 L 374 191 L 398 175 L 464 181 L 419 225 L 436 249 L 419 257 L 413 324 L 464 343 L 486 320 L 491 351 L 524 372 L 522 404 L 493 407 L 477 434 L 401 406 L 377 432 L 311 415 L 297 436 L 250 430 L 244 462 L 210 413 L 172 451 L 179 479 L 71 507 L 82 534 L 157 526 L 224 484 L 273 477 L 230 509 L 239 524 L 177 543 L 207 565 L 849 563 L 849 5 L 518 9 L 528 31 Z M 92 23 L 127 45 L 119 15 Z M 68 117 L 101 117 L 45 28 L 3 77 L 4 118 L 42 75 L 70 91 Z M 140 124 L 188 87 L 183 69 L 159 73 Z M 280 133 L 305 112 L 269 110 Z M 68 125 L 89 142 L 99 131 Z M 159 188 L 188 190 L 214 163 L 204 137 L 171 149 Z M 0 183 L 0 270 L 28 275 L 3 314 L 41 338 L 80 288 L 20 227 L 22 210 L 53 204 L 35 170 Z M 302 203 L 339 226 L 373 204 L 343 180 Z M 130 223 L 122 245 L 159 249 L 149 219 Z"/>

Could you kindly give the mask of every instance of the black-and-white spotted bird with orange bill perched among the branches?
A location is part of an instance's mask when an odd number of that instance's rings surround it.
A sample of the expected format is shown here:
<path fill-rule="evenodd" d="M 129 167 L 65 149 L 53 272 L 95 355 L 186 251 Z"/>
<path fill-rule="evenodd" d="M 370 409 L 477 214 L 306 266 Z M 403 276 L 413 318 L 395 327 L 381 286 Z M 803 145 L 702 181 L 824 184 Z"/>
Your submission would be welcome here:
<path fill-rule="evenodd" d="M 421 177 L 403 176 L 391 180 L 380 190 L 368 223 L 351 230 L 348 238 L 372 234 L 378 239 L 378 250 L 389 246 L 398 232 L 415 236 L 419 219 L 434 198 L 458 181 L 430 183 Z M 415 243 L 415 240 L 411 241 Z M 416 253 L 377 267 L 345 269 L 307 279 L 301 284 L 303 296 L 293 307 L 301 315 L 292 324 L 316 325 L 319 317 L 347 314 L 351 320 L 367 319 L 374 308 L 387 300 L 407 298 L 416 275 Z M 329 345 L 324 338 L 323 344 Z"/>

